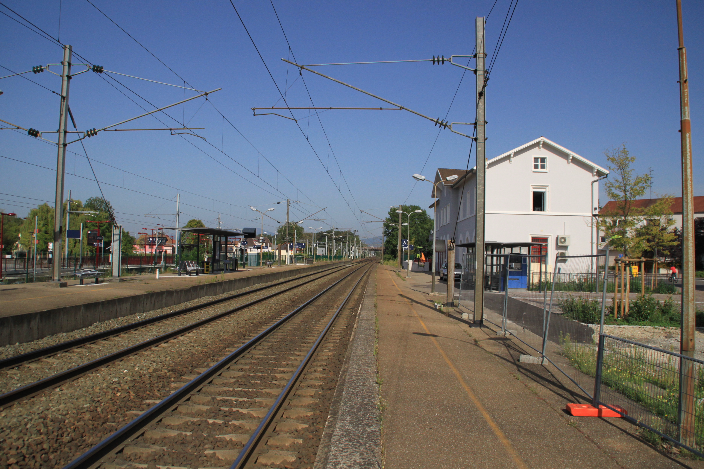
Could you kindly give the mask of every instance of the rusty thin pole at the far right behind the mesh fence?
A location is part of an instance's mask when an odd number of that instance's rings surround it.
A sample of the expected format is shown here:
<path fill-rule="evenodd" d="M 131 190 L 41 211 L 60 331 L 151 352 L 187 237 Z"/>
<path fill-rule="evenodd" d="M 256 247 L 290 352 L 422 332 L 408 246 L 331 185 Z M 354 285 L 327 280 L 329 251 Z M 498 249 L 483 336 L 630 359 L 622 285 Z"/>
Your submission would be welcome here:
<path fill-rule="evenodd" d="M 682 153 L 682 324 L 680 353 L 694 357 L 696 308 L 694 304 L 694 200 L 692 188 L 692 135 L 689 120 L 689 78 L 687 51 L 682 32 L 682 4 L 677 1 L 677 34 L 679 38 L 679 109 Z M 693 446 L 695 432 L 694 385 L 695 365 L 680 360 L 679 426 L 680 441 Z"/>

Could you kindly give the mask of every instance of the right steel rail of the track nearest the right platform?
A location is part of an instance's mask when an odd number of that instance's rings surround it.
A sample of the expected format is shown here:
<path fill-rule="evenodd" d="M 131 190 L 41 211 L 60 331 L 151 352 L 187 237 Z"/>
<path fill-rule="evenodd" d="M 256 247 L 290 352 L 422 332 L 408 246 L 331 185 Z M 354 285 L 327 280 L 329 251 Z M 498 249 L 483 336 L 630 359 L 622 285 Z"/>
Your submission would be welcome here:
<path fill-rule="evenodd" d="M 313 358 L 313 354 L 315 354 L 315 351 L 318 349 L 320 342 L 322 342 L 322 340 L 325 338 L 325 335 L 327 335 L 327 331 L 332 327 L 332 323 L 334 323 L 335 319 L 337 319 L 337 316 L 339 316 L 340 311 L 342 311 L 342 308 L 345 307 L 348 300 L 352 296 L 352 293 L 354 293 L 354 291 L 357 289 L 357 286 L 360 284 L 363 278 L 365 278 L 367 272 L 369 272 L 372 268 L 372 265 L 367 267 L 367 270 L 360 276 L 359 280 L 356 281 L 356 283 L 350 289 L 342 304 L 340 304 L 339 308 L 337 308 L 337 311 L 335 311 L 335 313 L 332 315 L 330 321 L 328 321 L 327 326 L 325 326 L 325 329 L 323 329 L 322 333 L 320 333 L 320 335 L 318 336 L 318 340 L 315 340 L 313 347 L 310 347 L 310 350 L 308 350 L 306 358 L 304 358 L 303 361 L 301 361 L 301 364 L 298 365 L 298 368 L 294 372 L 294 375 L 291 376 L 289 382 L 286 384 L 277 399 L 274 401 L 274 404 L 272 405 L 271 409 L 269 409 L 269 411 L 266 413 L 256 430 L 254 430 L 254 433 L 249 438 L 249 441 L 247 441 L 241 451 L 239 451 L 239 455 L 237 456 L 237 459 L 234 460 L 234 463 L 232 463 L 232 465 L 230 466 L 230 469 L 241 469 L 249 461 L 249 457 L 251 456 L 252 452 L 256 449 L 256 446 L 259 443 L 261 437 L 263 437 L 265 430 L 271 424 L 271 421 L 274 419 L 277 412 L 281 408 L 282 404 L 284 403 L 284 400 L 287 399 L 287 397 L 289 396 L 289 393 L 294 387 L 294 384 L 296 384 L 298 378 L 301 376 L 301 374 L 303 374 L 303 370 L 306 369 L 306 366 L 308 366 L 308 362 L 311 358 Z M 352 272 L 351 274 L 353 273 L 354 272 Z"/>

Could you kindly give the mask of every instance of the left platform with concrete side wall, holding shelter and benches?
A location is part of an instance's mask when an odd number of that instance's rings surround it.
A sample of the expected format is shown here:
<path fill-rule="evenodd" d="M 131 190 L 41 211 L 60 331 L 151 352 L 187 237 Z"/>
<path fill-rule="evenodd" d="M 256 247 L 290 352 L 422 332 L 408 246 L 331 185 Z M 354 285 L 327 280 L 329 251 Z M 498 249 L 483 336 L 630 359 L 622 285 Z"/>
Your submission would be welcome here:
<path fill-rule="evenodd" d="M 220 275 L 122 277 L 124 281 L 68 281 L 66 288 L 47 283 L 0 285 L 0 346 L 70 332 L 99 321 L 142 313 L 200 297 L 220 295 L 256 283 L 277 281 L 348 261 L 253 268 Z M 109 280 L 109 279 L 100 279 Z"/>

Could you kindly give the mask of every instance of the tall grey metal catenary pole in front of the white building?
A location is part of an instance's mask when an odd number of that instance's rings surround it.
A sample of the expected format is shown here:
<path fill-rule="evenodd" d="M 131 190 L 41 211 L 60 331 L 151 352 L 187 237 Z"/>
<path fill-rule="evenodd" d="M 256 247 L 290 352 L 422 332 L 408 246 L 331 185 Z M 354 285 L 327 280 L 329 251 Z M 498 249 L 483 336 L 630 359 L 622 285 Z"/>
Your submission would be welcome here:
<path fill-rule="evenodd" d="M 482 327 L 484 323 L 484 195 L 486 191 L 486 115 L 484 109 L 484 18 L 477 16 L 477 225 L 474 238 L 474 327 Z M 454 244 L 454 243 L 453 243 Z M 454 246 L 453 246 L 454 248 Z M 449 246 L 448 246 L 449 249 Z M 448 252 L 448 259 L 449 259 Z M 454 257 L 454 256 L 453 256 Z M 454 260 L 454 259 L 453 259 Z M 448 274 L 450 273 L 448 260 Z M 454 272 L 454 265 L 453 265 Z M 452 279 L 454 284 L 455 279 Z M 448 278 L 448 286 L 450 279 Z M 452 300 L 452 299 L 450 299 Z"/>

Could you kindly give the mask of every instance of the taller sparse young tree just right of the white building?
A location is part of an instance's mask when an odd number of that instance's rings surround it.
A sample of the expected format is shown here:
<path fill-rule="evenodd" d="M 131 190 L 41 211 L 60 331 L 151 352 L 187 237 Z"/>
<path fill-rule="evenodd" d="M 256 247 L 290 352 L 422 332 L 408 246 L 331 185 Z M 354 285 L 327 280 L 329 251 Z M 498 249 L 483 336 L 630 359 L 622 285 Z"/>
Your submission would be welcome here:
<path fill-rule="evenodd" d="M 667 214 L 670 205 L 667 198 L 660 199 L 650 207 L 641 207 L 634 201 L 646 193 L 650 187 L 650 174 L 636 175 L 631 167 L 636 157 L 631 155 L 626 146 L 610 148 L 604 152 L 612 178 L 604 184 L 606 195 L 615 203 L 610 210 L 602 212 L 599 229 L 606 238 L 612 239 L 610 245 L 620 250 L 627 257 L 638 257 L 646 248 L 644 233 L 639 229 L 649 217 Z"/>

